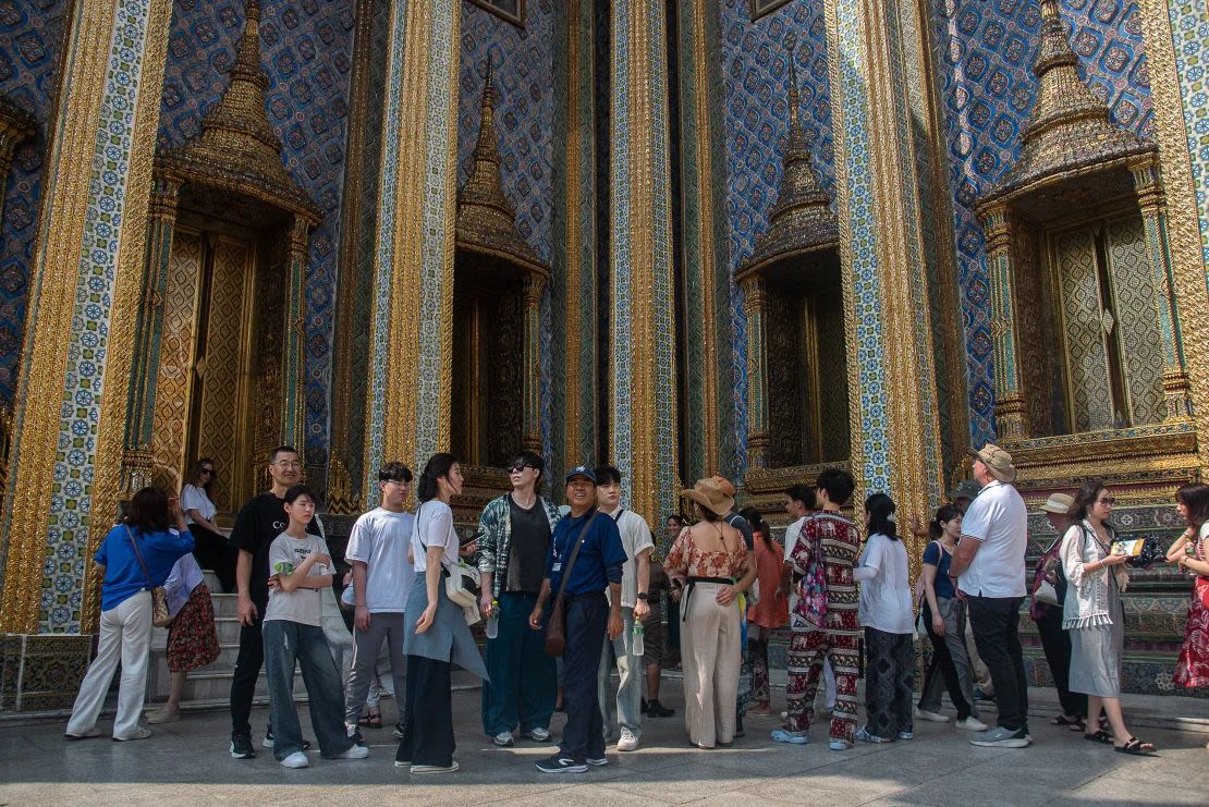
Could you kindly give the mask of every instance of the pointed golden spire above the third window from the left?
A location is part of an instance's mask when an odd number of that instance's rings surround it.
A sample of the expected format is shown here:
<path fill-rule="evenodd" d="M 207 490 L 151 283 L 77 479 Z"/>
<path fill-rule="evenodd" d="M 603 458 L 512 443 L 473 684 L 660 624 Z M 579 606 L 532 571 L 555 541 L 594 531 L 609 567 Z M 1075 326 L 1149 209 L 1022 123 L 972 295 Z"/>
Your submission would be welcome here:
<path fill-rule="evenodd" d="M 739 269 L 750 274 L 770 262 L 793 254 L 839 244 L 839 222 L 831 209 L 810 161 L 810 139 L 802 127 L 797 46 L 789 48 L 789 133 L 785 139 L 781 187 L 769 214 L 768 231 L 756 242 L 752 256 Z M 737 279 L 737 278 L 736 278 Z"/>

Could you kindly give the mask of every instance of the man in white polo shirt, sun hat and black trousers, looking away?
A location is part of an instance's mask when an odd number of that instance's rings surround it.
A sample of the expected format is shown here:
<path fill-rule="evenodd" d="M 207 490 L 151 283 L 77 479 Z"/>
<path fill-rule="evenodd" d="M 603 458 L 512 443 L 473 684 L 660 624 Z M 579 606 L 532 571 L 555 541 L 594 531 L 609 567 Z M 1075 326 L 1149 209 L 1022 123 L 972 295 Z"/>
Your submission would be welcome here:
<path fill-rule="evenodd" d="M 1024 748 L 1029 744 L 1029 685 L 1020 646 L 1020 605 L 1026 593 L 1024 555 L 1029 518 L 1012 487 L 1012 455 L 993 443 L 970 451 L 982 492 L 961 521 L 961 541 L 949 565 L 958 594 L 966 600 L 978 655 L 995 684 L 999 721 L 970 737 L 974 745 Z"/>

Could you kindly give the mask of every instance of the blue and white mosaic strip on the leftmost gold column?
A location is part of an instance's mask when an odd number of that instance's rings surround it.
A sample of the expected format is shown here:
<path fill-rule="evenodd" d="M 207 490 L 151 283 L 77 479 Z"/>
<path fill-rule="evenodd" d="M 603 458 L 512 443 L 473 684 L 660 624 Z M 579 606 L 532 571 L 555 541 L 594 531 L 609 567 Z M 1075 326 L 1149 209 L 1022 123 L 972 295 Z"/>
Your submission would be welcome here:
<path fill-rule="evenodd" d="M 48 547 L 39 609 L 39 633 L 79 633 L 89 534 L 97 429 L 105 384 L 105 350 L 117 252 L 126 223 L 131 149 L 143 85 L 150 0 L 118 0 L 105 68 L 105 94 L 88 184 L 80 243 L 80 275 L 71 314 L 63 385 L 59 443 L 51 488 Z M 76 34 L 79 35 L 79 34 Z M 73 46 L 74 47 L 74 46 Z M 45 215 L 44 215 L 45 221 Z M 144 222 L 132 221 L 143 227 Z M 122 384 L 126 379 L 116 379 Z M 104 530 L 104 522 L 99 529 Z"/>

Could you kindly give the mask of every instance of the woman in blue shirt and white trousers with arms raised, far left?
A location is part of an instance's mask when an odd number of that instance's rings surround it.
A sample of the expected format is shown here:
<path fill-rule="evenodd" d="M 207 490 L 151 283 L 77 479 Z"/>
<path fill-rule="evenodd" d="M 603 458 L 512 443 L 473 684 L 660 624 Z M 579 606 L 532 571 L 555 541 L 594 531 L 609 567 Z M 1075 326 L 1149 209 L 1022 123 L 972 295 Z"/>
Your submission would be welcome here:
<path fill-rule="evenodd" d="M 169 517 L 175 529 L 169 529 Z M 146 695 L 147 661 L 151 650 L 151 590 L 162 586 L 177 559 L 193 551 L 193 536 L 185 526 L 180 500 L 160 488 L 143 488 L 134 494 L 121 523 L 109 530 L 93 562 L 104 575 L 100 586 L 100 641 L 97 658 L 88 667 L 66 738 L 99 737 L 97 716 L 105 692 L 122 662 L 122 684 L 117 692 L 114 739 L 144 739 L 151 736 L 139 725 Z"/>

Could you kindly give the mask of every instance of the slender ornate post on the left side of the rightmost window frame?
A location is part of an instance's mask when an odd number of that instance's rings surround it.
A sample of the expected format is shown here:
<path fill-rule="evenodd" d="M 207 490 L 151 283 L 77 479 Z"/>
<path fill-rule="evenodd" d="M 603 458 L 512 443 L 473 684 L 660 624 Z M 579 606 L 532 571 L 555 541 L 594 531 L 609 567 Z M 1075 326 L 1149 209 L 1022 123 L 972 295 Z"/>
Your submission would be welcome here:
<path fill-rule="evenodd" d="M 1007 205 L 982 214 L 990 274 L 990 335 L 995 346 L 995 431 L 1002 439 L 1029 435 L 1028 407 L 1020 384 L 1020 348 L 1016 341 L 1016 288 L 1012 280 L 1012 219 Z"/>

